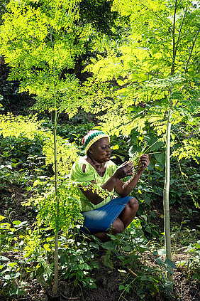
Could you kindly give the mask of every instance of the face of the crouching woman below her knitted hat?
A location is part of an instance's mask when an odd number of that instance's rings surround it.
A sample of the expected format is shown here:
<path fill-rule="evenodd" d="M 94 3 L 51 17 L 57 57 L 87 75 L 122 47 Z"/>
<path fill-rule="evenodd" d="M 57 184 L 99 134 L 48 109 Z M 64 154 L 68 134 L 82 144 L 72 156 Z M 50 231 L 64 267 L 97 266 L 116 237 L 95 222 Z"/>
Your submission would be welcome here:
<path fill-rule="evenodd" d="M 111 148 L 109 138 L 101 138 L 97 140 L 89 148 L 89 154 L 96 162 L 104 163 L 111 159 Z"/>

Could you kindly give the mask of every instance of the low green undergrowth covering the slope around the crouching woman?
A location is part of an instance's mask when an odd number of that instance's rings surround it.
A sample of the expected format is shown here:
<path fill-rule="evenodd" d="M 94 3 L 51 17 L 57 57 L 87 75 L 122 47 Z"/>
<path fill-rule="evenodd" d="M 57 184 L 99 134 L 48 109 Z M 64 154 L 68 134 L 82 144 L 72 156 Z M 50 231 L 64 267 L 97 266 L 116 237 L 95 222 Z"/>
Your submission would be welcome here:
<path fill-rule="evenodd" d="M 45 125 L 47 123 L 43 122 L 43 127 Z M 92 127 L 94 124 L 89 122 L 76 127 L 60 126 L 58 131 L 62 139 L 67 138 L 80 147 L 82 136 Z M 50 124 L 48 129 L 50 129 Z M 4 300 L 20 300 L 21 296 L 26 296 L 30 293 L 29 283 L 33 279 L 40 282 L 44 288 L 52 285 L 54 231 L 50 224 L 44 223 L 44 216 L 40 214 L 38 220 L 35 218 L 40 208 L 40 202 L 35 201 L 36 195 L 45 196 L 48 191 L 50 192 L 49 179 L 53 173 L 51 164 L 48 166 L 45 164 L 43 138 L 43 135 L 39 133 L 31 139 L 24 134 L 18 137 L 3 137 L 2 135 L 0 137 L 2 205 L 0 285 L 1 297 Z M 113 159 L 117 163 L 123 161 L 127 156 L 126 141 L 123 137 L 118 137 L 118 144 L 116 137 L 111 137 L 111 141 L 114 144 Z M 82 154 L 82 147 L 80 149 L 80 154 Z M 170 206 L 179 208 L 182 216 L 181 221 L 173 218 L 172 252 L 176 254 L 183 250 L 187 254 L 187 260 L 172 262 L 165 260 L 164 233 L 161 224 L 164 171 L 159 164 L 156 164 L 155 157 L 152 155 L 150 169 L 143 175 L 133 192 L 133 196 L 140 202 L 138 218 L 135 218 L 125 233 L 111 236 L 110 242 L 102 244 L 94 237 L 88 241 L 86 236 L 79 233 L 78 225 L 75 228 L 69 225 L 67 230 L 65 228 L 60 230 L 60 280 L 67 283 L 73 282 L 75 287 L 95 289 L 96 279 L 93 277 L 93 272 L 99 269 L 97 256 L 108 268 L 120 270 L 118 300 L 126 299 L 126 295 L 133 292 L 138 295 L 138 300 L 145 300 L 147 294 L 152 297 L 163 295 L 174 298 L 172 283 L 167 280 L 165 273 L 166 271 L 174 273 L 177 268 L 181 268 L 189 280 L 199 281 L 199 228 L 198 225 L 195 228 L 189 226 L 199 212 L 191 199 L 191 197 L 195 201 L 199 199 L 199 189 L 196 189 L 196 186 L 199 187 L 200 184 L 198 167 L 188 160 L 182 163 L 182 171 L 180 171 L 175 158 L 172 159 Z M 185 178 L 184 174 L 187 175 Z M 187 186 L 185 186 L 185 181 L 187 181 Z M 62 176 L 61 182 L 60 189 L 66 190 L 65 176 L 64 178 Z M 31 196 L 33 200 L 28 204 L 27 210 L 34 214 L 32 218 L 27 216 L 26 221 L 15 217 L 18 206 L 21 204 L 16 206 L 16 201 L 12 201 L 13 191 L 22 188 L 26 191 L 23 200 L 28 203 Z M 67 195 L 65 197 L 67 198 Z M 9 204 L 9 211 L 6 204 Z M 64 208 L 65 204 L 63 203 L 62 206 Z M 48 210 L 47 206 L 44 208 Z M 8 213 L 11 211 L 16 211 L 16 215 Z M 78 211 L 75 214 L 78 214 Z M 65 223 L 65 214 L 63 218 Z M 157 223 L 158 221 L 161 223 Z M 154 264 L 150 266 L 146 258 L 154 258 Z"/>

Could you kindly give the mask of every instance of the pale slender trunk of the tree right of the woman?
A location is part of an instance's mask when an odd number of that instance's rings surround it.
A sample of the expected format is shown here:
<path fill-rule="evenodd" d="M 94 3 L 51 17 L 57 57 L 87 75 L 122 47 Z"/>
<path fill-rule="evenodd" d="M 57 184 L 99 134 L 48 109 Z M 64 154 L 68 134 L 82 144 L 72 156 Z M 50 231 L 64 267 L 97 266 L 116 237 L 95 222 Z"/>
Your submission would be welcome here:
<path fill-rule="evenodd" d="M 165 250 L 166 258 L 172 260 L 171 254 L 171 236 L 170 236 L 170 131 L 171 131 L 172 109 L 167 117 L 167 137 L 165 150 L 165 185 L 163 189 L 163 208 L 164 208 L 164 230 L 165 230 Z M 172 280 L 172 276 L 167 272 L 167 278 Z"/>

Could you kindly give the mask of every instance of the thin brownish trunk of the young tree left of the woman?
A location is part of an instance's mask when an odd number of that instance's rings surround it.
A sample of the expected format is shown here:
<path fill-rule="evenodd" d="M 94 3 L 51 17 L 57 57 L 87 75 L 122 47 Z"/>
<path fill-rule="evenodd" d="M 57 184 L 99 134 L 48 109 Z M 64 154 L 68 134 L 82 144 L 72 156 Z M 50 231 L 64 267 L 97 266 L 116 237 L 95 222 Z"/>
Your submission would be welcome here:
<path fill-rule="evenodd" d="M 56 132 L 57 130 L 57 110 L 55 110 L 54 120 L 54 158 L 55 158 L 55 202 L 57 205 L 57 217 L 56 217 L 56 229 L 55 229 L 55 263 L 54 263 L 54 282 L 52 292 L 57 294 L 57 279 L 58 279 L 58 218 L 59 218 L 59 199 L 57 197 L 57 144 L 56 144 Z"/>

